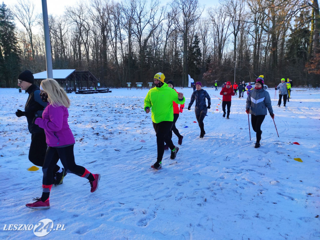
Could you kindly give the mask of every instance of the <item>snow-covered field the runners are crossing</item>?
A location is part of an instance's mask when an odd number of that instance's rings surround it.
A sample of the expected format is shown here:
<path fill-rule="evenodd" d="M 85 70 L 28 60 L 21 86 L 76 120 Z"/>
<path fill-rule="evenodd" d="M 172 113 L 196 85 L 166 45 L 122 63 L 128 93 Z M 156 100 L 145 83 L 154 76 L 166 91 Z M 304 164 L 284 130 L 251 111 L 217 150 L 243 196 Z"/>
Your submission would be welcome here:
<path fill-rule="evenodd" d="M 187 110 L 192 89 L 177 88 L 186 97 L 176 124 L 184 138 L 176 159 L 164 152 L 160 170 L 150 167 L 156 136 L 143 110 L 148 89 L 110 90 L 68 94 L 76 163 L 101 174 L 98 190 L 68 174 L 52 187 L 51 208 L 34 210 L 25 204 L 41 196 L 42 171 L 27 171 L 31 134 L 26 118 L 15 116 L 28 94 L 0 89 L 0 239 L 36 239 L 33 230 L 8 227 L 42 219 L 54 224 L 43 239 L 320 239 L 318 89 L 293 88 L 286 108 L 268 90 L 279 137 L 267 115 L 255 149 L 246 98 L 232 97 L 227 120 L 220 89 L 204 88 L 212 105 L 200 139 L 195 103 Z"/>

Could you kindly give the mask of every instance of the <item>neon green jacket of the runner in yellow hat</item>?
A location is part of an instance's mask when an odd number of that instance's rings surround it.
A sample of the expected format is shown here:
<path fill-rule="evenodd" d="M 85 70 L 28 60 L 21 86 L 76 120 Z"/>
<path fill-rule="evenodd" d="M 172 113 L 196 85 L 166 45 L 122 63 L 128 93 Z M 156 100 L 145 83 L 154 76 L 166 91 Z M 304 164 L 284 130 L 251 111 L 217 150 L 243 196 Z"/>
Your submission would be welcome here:
<path fill-rule="evenodd" d="M 180 101 L 178 93 L 168 87 L 168 84 L 164 83 L 161 88 L 154 87 L 150 89 L 144 99 L 144 110 L 149 107 L 151 110 L 151 119 L 154 123 L 160 123 L 163 121 L 173 121 L 173 105 L 172 101 L 178 104 L 184 104 L 185 97 Z"/>

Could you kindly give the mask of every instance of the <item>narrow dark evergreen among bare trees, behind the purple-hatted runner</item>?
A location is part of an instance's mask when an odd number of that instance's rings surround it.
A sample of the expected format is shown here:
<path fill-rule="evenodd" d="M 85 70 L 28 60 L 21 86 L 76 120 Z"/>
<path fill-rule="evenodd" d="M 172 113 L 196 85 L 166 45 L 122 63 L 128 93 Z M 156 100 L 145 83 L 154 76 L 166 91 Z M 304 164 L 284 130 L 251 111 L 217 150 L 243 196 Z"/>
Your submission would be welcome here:
<path fill-rule="evenodd" d="M 202 61 L 202 53 L 199 43 L 199 37 L 198 34 L 196 34 L 194 40 L 192 41 L 188 56 L 188 74 L 195 80 L 195 82 L 199 81 L 200 66 Z"/>

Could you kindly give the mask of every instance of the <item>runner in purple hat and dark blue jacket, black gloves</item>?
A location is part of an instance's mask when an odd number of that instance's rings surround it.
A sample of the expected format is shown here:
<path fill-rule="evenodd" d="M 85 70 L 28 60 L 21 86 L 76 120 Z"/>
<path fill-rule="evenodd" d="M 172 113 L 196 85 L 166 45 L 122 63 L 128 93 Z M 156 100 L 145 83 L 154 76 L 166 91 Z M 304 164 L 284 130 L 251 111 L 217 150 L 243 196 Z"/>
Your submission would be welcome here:
<path fill-rule="evenodd" d="M 207 114 L 208 108 L 210 108 L 211 99 L 207 91 L 203 90 L 201 87 L 201 82 L 196 82 L 196 91 L 194 91 L 191 95 L 188 110 L 191 110 L 191 106 L 193 102 L 196 100 L 195 114 L 200 127 L 200 138 L 203 138 L 205 134 L 203 120 Z M 205 99 L 208 99 L 208 106 L 206 105 Z"/>

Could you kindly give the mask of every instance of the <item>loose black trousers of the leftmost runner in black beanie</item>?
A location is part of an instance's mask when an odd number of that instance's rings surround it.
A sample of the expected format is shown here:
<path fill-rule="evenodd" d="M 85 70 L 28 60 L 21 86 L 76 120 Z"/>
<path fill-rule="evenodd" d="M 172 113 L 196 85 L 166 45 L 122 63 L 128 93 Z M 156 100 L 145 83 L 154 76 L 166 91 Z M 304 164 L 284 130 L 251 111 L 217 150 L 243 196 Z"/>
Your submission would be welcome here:
<path fill-rule="evenodd" d="M 34 165 L 42 167 L 44 164 L 44 157 L 47 151 L 47 143 L 45 142 L 45 133 L 41 131 L 40 133 L 31 134 L 31 143 L 29 149 L 29 160 Z M 56 164 L 52 171 L 56 173 L 59 171 L 60 167 Z"/>

